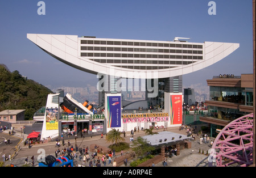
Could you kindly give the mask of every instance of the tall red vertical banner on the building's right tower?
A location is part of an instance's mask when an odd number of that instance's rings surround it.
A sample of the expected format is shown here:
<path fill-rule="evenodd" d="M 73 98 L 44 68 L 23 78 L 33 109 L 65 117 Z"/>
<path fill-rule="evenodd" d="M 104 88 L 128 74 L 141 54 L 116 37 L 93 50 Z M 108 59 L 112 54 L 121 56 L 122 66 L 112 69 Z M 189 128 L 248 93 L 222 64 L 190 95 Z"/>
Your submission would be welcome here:
<path fill-rule="evenodd" d="M 170 96 L 171 124 L 182 124 L 182 95 Z"/>

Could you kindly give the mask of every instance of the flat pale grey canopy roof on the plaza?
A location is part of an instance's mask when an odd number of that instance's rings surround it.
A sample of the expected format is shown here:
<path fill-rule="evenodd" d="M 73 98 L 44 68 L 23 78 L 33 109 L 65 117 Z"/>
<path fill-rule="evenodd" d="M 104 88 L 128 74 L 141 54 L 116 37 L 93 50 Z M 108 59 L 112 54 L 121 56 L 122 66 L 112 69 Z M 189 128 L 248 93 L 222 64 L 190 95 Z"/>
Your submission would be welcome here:
<path fill-rule="evenodd" d="M 187 135 L 178 134 L 174 132 L 159 132 L 154 135 L 146 135 L 142 137 L 147 139 L 148 143 L 152 146 L 159 146 L 162 144 L 171 145 L 172 142 L 183 141 L 184 139 L 191 139 L 192 137 L 187 137 Z"/>

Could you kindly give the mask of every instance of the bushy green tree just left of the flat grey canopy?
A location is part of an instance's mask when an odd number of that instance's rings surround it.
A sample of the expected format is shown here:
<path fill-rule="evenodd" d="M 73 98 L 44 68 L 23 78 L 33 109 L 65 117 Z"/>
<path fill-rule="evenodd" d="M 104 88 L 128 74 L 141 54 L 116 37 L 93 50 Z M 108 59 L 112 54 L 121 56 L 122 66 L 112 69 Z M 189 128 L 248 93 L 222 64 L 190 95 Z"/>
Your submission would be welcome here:
<path fill-rule="evenodd" d="M 155 150 L 155 148 L 153 146 L 150 146 L 147 140 L 142 137 L 138 137 L 136 140 L 134 140 L 132 147 L 137 157 L 143 156 L 147 152 Z"/>

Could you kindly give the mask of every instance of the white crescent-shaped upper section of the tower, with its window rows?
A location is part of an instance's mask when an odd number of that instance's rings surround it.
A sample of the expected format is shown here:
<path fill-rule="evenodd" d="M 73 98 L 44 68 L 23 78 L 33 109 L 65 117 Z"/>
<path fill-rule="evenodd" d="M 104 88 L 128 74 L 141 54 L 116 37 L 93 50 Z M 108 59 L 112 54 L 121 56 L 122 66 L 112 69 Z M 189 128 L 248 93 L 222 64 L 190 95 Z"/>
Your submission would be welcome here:
<path fill-rule="evenodd" d="M 30 33 L 27 38 L 67 65 L 122 78 L 170 78 L 192 73 L 222 60 L 240 46 L 189 43 L 177 41 L 179 38 L 153 41 Z"/>

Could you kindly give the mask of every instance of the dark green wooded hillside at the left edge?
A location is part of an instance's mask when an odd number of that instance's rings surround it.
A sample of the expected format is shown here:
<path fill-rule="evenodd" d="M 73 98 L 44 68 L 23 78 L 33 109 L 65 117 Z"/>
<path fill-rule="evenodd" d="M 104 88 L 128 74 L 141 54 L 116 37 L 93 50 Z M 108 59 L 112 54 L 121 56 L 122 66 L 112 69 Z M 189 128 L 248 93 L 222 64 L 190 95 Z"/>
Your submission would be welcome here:
<path fill-rule="evenodd" d="M 34 80 L 22 77 L 19 71 L 13 73 L 0 64 L 0 111 L 5 109 L 26 109 L 25 120 L 32 120 L 38 109 L 46 105 L 52 91 Z"/>

